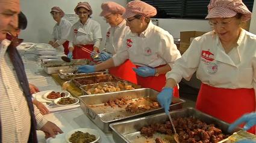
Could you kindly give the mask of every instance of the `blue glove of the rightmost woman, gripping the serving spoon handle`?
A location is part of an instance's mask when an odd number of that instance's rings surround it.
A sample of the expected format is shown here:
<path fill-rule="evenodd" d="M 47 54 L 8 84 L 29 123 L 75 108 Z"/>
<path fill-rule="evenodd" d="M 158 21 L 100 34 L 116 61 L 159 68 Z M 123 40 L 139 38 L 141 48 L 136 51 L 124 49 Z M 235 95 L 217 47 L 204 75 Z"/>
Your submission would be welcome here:
<path fill-rule="evenodd" d="M 161 107 L 164 108 L 165 114 L 169 114 L 169 106 L 172 101 L 173 89 L 165 87 L 158 95 L 157 101 L 160 103 Z"/>

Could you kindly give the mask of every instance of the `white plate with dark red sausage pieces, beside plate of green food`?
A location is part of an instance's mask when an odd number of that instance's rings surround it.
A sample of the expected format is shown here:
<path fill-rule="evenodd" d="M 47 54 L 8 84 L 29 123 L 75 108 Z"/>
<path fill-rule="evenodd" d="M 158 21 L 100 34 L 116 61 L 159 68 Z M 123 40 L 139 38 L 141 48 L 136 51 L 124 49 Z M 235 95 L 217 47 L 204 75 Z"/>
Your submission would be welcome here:
<path fill-rule="evenodd" d="M 54 91 L 54 90 L 49 90 L 49 92 L 46 92 L 43 95 L 43 98 L 48 100 L 48 101 L 54 101 L 55 99 L 58 98 L 66 98 L 69 97 L 70 93 L 67 91 Z"/>

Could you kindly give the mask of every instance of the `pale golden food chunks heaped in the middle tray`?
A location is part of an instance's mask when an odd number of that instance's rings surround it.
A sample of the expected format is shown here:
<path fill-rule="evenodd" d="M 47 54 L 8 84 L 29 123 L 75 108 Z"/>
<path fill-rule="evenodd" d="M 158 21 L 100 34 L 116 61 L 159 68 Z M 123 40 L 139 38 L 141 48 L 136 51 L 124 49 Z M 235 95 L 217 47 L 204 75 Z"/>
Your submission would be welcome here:
<path fill-rule="evenodd" d="M 119 92 L 122 90 L 132 90 L 135 89 L 133 85 L 126 82 L 117 81 L 115 82 L 106 82 L 106 83 L 96 83 L 93 85 L 87 85 L 83 87 L 86 90 L 88 95 L 98 94 L 98 93 L 108 93 L 108 92 Z"/>

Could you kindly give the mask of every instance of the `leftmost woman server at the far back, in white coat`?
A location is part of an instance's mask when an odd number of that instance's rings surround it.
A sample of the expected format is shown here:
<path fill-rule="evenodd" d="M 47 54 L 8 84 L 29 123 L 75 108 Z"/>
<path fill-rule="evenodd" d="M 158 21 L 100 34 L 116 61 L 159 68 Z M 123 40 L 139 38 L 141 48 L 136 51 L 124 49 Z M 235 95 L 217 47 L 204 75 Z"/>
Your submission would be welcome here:
<path fill-rule="evenodd" d="M 57 23 L 52 31 L 52 39 L 48 44 L 62 51 L 63 48 L 61 45 L 63 45 L 64 54 L 67 55 L 67 53 L 69 53 L 69 41 L 67 41 L 67 37 L 69 36 L 72 24 L 68 20 L 62 18 L 64 16 L 64 12 L 59 7 L 52 7 L 50 13 Z"/>

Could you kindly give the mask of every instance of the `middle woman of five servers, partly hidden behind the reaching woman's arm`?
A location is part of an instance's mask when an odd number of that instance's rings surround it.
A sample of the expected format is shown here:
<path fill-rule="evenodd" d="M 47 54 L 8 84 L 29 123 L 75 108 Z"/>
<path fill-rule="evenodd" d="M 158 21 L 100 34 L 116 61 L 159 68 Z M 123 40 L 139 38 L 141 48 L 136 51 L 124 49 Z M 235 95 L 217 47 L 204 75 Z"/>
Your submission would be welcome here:
<path fill-rule="evenodd" d="M 130 32 L 130 28 L 126 26 L 126 21 L 122 17 L 125 8 L 116 2 L 110 1 L 102 3 L 101 9 L 100 16 L 104 17 L 106 22 L 110 25 L 110 28 L 107 29 L 105 49 L 113 55 L 116 54 L 122 46 L 125 35 Z M 102 51 L 101 60 L 105 61 L 112 55 Z M 110 68 L 109 72 L 116 77 L 137 84 L 136 73 L 133 71 L 133 68 L 135 67 L 136 66 L 127 59 L 122 65 Z"/>

